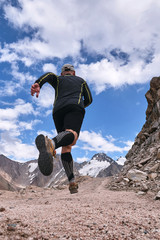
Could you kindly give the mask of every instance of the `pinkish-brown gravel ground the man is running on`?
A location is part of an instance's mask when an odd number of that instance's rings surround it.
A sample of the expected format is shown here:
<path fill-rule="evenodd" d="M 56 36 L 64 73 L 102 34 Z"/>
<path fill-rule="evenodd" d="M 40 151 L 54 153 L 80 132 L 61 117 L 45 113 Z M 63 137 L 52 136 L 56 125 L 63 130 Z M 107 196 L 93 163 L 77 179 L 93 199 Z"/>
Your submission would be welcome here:
<path fill-rule="evenodd" d="M 106 189 L 107 179 L 68 189 L 0 191 L 0 239 L 157 240 L 160 201 Z"/>

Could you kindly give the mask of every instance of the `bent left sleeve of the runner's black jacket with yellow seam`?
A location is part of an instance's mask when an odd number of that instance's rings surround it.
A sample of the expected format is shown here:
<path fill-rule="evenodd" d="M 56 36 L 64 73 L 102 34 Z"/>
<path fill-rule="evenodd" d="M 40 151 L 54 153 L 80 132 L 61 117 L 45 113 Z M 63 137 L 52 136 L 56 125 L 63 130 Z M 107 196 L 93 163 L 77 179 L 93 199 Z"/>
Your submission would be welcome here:
<path fill-rule="evenodd" d="M 38 83 L 40 88 L 48 82 L 52 87 L 56 88 L 58 82 L 58 76 L 52 72 L 45 73 L 40 78 L 38 78 L 35 83 Z"/>

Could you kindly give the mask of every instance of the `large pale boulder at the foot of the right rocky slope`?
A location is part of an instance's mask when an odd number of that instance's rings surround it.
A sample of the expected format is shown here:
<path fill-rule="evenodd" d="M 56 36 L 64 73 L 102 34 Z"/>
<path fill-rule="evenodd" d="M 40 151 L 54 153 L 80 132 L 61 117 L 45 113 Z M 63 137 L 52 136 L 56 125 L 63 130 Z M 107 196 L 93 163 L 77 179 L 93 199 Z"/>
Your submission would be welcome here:
<path fill-rule="evenodd" d="M 127 173 L 127 178 L 130 179 L 131 181 L 144 181 L 147 178 L 147 173 L 142 172 L 137 169 L 131 169 Z"/>

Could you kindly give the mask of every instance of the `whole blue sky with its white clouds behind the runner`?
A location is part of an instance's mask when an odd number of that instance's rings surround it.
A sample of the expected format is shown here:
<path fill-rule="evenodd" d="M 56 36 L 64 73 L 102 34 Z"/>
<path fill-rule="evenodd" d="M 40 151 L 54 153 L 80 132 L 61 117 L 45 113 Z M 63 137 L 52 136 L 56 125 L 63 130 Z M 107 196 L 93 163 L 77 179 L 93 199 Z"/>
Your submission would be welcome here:
<path fill-rule="evenodd" d="M 36 159 L 37 134 L 56 135 L 54 89 L 44 85 L 36 99 L 30 87 L 71 63 L 93 94 L 74 160 L 125 156 L 159 76 L 159 10 L 157 0 L 0 0 L 0 154 Z"/>

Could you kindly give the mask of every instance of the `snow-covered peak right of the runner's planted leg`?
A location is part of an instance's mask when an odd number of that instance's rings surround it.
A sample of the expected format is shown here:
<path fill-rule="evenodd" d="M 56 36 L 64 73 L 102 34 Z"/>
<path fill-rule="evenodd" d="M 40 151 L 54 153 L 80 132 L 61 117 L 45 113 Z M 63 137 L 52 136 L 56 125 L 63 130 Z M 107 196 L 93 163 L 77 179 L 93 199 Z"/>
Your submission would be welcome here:
<path fill-rule="evenodd" d="M 79 170 L 79 173 L 83 176 L 108 177 L 118 173 L 120 169 L 121 166 L 105 153 L 98 153 Z"/>

